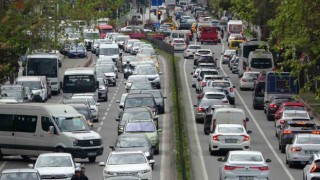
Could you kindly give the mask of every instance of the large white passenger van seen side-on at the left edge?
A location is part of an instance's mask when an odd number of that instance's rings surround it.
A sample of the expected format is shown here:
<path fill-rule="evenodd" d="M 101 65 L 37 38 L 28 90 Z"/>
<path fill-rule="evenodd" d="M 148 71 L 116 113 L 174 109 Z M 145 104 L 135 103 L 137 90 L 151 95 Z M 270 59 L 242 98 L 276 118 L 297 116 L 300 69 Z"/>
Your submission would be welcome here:
<path fill-rule="evenodd" d="M 0 159 L 27 159 L 46 152 L 69 152 L 94 162 L 102 140 L 83 115 L 65 104 L 0 104 Z"/>

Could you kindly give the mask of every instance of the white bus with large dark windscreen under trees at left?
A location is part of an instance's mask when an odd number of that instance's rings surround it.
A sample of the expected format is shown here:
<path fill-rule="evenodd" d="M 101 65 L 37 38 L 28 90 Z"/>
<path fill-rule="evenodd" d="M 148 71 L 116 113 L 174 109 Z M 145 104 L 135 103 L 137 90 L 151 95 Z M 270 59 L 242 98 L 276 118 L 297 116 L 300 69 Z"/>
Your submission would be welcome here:
<path fill-rule="evenodd" d="M 59 68 L 63 55 L 59 51 L 39 52 L 27 56 L 25 66 L 26 76 L 46 76 L 51 86 L 52 94 L 59 94 L 61 81 L 59 79 Z"/>

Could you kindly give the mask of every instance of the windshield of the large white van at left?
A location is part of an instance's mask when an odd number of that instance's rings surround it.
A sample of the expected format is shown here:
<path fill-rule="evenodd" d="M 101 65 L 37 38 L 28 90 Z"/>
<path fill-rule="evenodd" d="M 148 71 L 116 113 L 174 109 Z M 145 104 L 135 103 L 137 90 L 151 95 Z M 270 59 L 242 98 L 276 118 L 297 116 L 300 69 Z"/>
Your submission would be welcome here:
<path fill-rule="evenodd" d="M 54 121 L 61 132 L 90 131 L 86 120 L 81 116 L 55 117 Z"/>

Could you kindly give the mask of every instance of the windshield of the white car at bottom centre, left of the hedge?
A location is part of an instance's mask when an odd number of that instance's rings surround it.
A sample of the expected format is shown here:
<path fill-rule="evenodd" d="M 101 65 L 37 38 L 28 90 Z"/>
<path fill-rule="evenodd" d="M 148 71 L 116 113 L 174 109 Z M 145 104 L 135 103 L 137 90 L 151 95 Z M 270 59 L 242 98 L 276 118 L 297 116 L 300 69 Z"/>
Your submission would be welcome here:
<path fill-rule="evenodd" d="M 134 154 L 111 154 L 108 165 L 123 165 L 123 164 L 143 164 L 147 163 L 145 156 L 142 153 Z"/>

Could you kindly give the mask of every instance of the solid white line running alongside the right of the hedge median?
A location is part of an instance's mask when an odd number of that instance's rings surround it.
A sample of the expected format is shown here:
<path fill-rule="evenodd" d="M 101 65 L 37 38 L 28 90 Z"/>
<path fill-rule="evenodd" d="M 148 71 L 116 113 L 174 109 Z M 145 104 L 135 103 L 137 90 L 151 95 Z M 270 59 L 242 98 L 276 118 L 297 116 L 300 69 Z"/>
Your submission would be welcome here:
<path fill-rule="evenodd" d="M 186 60 L 184 59 L 184 63 L 183 63 L 183 72 L 184 72 L 184 80 L 185 80 L 185 84 L 187 84 L 187 87 L 189 87 L 189 83 L 187 80 L 187 72 L 186 72 Z M 195 117 L 194 115 L 194 111 L 193 111 L 193 103 L 192 103 L 192 98 L 191 98 L 191 93 L 190 93 L 190 88 L 187 88 L 187 92 L 188 92 L 188 99 L 189 99 L 189 107 L 190 107 L 190 112 L 192 115 L 192 118 Z M 200 144 L 200 140 L 199 140 L 199 136 L 198 136 L 198 130 L 197 130 L 197 125 L 195 121 L 192 121 L 192 125 L 193 125 L 193 135 L 195 139 L 196 139 L 196 146 L 198 148 L 198 153 L 199 153 L 199 160 L 200 160 L 200 164 L 201 164 L 201 169 L 202 169 L 202 174 L 203 174 L 203 178 L 202 180 L 208 180 L 208 173 L 207 173 L 207 169 L 206 169 L 206 165 L 204 163 L 204 159 L 203 159 L 203 154 L 202 154 L 202 147 Z"/>

